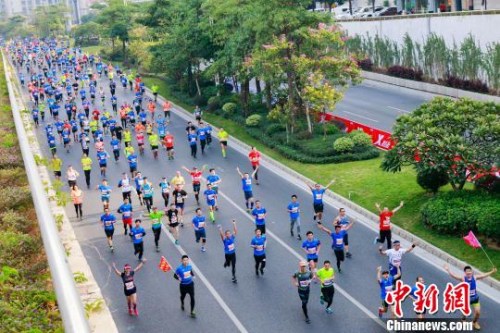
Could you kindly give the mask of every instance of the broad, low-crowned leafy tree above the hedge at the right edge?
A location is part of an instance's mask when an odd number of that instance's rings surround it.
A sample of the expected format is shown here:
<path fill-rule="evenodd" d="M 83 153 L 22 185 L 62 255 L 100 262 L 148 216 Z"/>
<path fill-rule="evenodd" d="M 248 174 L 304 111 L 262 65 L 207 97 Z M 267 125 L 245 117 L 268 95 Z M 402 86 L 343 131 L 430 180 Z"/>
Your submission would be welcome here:
<path fill-rule="evenodd" d="M 432 168 L 448 175 L 454 190 L 477 180 L 500 162 L 500 104 L 437 97 L 400 116 L 393 128 L 395 147 L 382 169 Z"/>

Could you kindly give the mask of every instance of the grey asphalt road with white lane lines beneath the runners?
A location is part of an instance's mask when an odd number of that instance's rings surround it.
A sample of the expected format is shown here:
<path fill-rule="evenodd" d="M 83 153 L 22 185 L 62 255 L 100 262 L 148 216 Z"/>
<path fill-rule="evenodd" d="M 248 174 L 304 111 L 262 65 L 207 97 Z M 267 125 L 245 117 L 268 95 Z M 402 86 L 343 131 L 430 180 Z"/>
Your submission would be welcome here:
<path fill-rule="evenodd" d="M 107 80 L 103 82 L 108 91 Z M 362 91 L 360 93 L 363 95 Z M 124 91 L 119 87 L 117 94 L 119 104 L 125 100 L 131 102 L 132 97 L 129 91 Z M 208 244 L 205 253 L 200 252 L 199 245 L 195 243 L 194 232 L 189 223 L 181 229 L 180 246 L 174 245 L 168 232 L 164 232 L 160 240 L 161 252 L 156 253 L 150 223 L 146 218 L 144 227 L 148 235 L 145 237 L 145 258 L 148 262 L 136 275 L 140 316 L 130 317 L 126 311 L 121 279 L 112 273 L 111 263 L 116 262 L 118 267 L 122 267 L 125 263 L 132 265 L 138 263 L 133 256 L 131 241 L 128 236 L 123 235 L 120 223 L 118 223 L 114 238 L 115 252 L 109 251 L 99 222 L 102 212 L 100 195 L 97 190 L 85 189 L 83 221 L 76 220 L 71 204 L 68 205 L 66 212 L 120 332 L 384 331 L 385 325 L 377 317 L 380 297 L 375 270 L 379 265 L 386 267 L 387 259 L 381 257 L 376 246 L 372 244 L 375 233 L 360 223 L 355 224 L 349 231 L 353 257 L 346 259 L 342 273 L 336 274 L 337 286 L 345 293 L 336 292 L 333 304 L 334 313 L 328 315 L 319 304 L 319 285 L 312 285 L 309 303 L 312 322 L 310 325 L 306 324 L 296 288 L 291 284 L 291 275 L 297 269 L 298 257 L 303 254 L 301 242 L 290 237 L 289 234 L 289 219 L 285 207 L 291 194 L 297 194 L 301 202 L 303 233 L 313 230 L 323 243 L 320 261 L 330 259 L 334 262 L 335 259 L 330 249 L 330 237 L 317 229 L 311 221 L 311 194 L 304 191 L 298 184 L 287 181 L 266 169 L 260 170 L 261 185 L 254 186 L 254 195 L 262 201 L 269 212 L 267 228 L 270 232 L 268 232 L 267 270 L 264 277 L 256 277 L 252 249 L 249 247 L 254 226 L 251 217 L 243 210 L 244 198 L 240 178 L 235 170 L 237 166 L 240 166 L 242 170 L 250 170 L 247 157 L 230 148 L 228 158 L 223 159 L 215 141 L 204 156 L 200 154 L 199 158 L 194 160 L 189 156 L 184 127 L 185 121 L 174 113 L 169 131 L 176 138 L 175 160 L 168 161 L 163 150 L 160 151 L 160 158 L 154 160 L 151 151 L 147 149 L 145 155 L 139 158 L 138 170 L 157 185 L 162 176 L 172 178 L 175 171 L 180 170 L 183 165 L 187 167 L 207 165 L 217 169 L 222 177 L 219 196 L 220 210 L 216 215 L 217 224 L 220 223 L 224 228 L 229 228 L 233 218 L 238 224 L 239 233 L 236 241 L 238 283 L 231 282 L 230 271 L 222 266 L 223 246 L 215 225 L 209 225 L 207 228 Z M 43 125 L 38 130 L 38 138 L 48 157 L 50 154 L 46 146 Z M 109 138 L 106 140 L 106 149 L 111 152 Z M 59 156 L 64 160 L 63 170 L 69 164 L 76 166 L 81 173 L 78 184 L 84 187 L 83 172 L 81 172 L 79 162 L 80 146 L 73 146 L 70 153 L 64 152 L 62 146 L 58 146 L 58 151 Z M 93 148 L 91 148 L 90 156 L 94 160 L 92 186 L 95 187 L 100 182 L 100 175 Z M 114 191 L 111 208 L 114 211 L 121 203 L 121 193 L 117 184 L 124 171 L 128 172 L 128 165 L 123 156 L 116 164 L 113 161 L 108 162 L 108 180 Z M 184 177 L 186 181 L 189 180 L 189 175 L 186 173 Z M 189 198 L 185 220 L 190 221 L 194 214 L 195 201 L 190 185 L 186 186 L 186 190 Z M 163 208 L 163 200 L 161 200 L 158 188 L 156 188 L 154 201 L 156 205 Z M 201 201 L 201 207 L 206 210 L 204 200 Z M 145 210 L 145 207 L 138 205 L 135 195 L 133 203 L 135 216 L 138 215 L 137 212 Z M 333 207 L 327 205 L 325 220 L 331 221 L 336 213 Z M 120 218 L 118 214 L 117 218 Z M 327 225 L 331 227 L 330 222 Z M 180 310 L 178 282 L 173 279 L 172 273 L 163 273 L 157 268 L 161 255 L 165 256 L 173 266 L 177 266 L 181 253 L 184 251 L 189 254 L 196 265 L 195 273 L 198 276 L 195 282 L 196 319 L 189 318 L 187 312 Z M 436 283 L 443 291 L 445 284 L 450 281 L 444 271 L 436 269 L 435 266 L 415 254 L 408 254 L 404 257 L 403 267 L 403 277 L 407 283 L 412 283 L 417 275 L 422 275 L 427 283 Z M 495 332 L 495 327 L 500 325 L 500 306 L 486 296 L 482 296 L 481 304 L 483 331 Z M 405 302 L 404 310 L 407 317 L 414 317 L 410 301 Z M 443 312 L 436 316 L 460 317 L 458 314 L 447 315 Z"/>

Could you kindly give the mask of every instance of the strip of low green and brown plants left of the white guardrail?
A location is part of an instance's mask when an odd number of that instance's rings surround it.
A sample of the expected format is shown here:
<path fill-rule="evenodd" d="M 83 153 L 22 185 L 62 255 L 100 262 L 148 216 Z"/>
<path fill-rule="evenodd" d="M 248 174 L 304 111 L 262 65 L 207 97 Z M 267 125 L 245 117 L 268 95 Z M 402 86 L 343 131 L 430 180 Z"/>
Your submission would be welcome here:
<path fill-rule="evenodd" d="M 0 105 L 0 126 L 12 131 L 2 64 Z M 0 135 L 0 332 L 63 332 L 14 133 Z"/>

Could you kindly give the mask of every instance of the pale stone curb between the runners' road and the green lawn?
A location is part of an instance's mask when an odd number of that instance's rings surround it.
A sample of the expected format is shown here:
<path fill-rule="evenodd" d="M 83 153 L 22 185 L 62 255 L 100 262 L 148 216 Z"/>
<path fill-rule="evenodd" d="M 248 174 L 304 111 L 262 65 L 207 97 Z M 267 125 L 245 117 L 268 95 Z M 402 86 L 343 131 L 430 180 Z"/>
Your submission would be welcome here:
<path fill-rule="evenodd" d="M 153 96 L 151 93 L 151 90 L 149 88 L 147 88 L 147 92 L 149 93 L 150 96 Z M 163 96 L 158 95 L 158 101 L 160 101 L 160 100 L 163 101 L 163 100 L 165 100 L 165 98 Z M 180 117 L 182 117 L 186 121 L 194 121 L 195 120 L 192 113 L 190 113 L 189 111 L 185 110 L 184 108 L 178 106 L 177 104 L 175 104 L 173 102 L 171 102 L 171 103 L 175 107 L 174 108 L 175 111 L 178 111 L 177 114 Z M 214 132 L 217 133 L 219 129 L 213 125 L 212 125 L 212 127 L 215 130 Z M 233 148 L 235 148 L 239 152 L 242 152 L 245 155 L 250 150 L 250 146 L 248 144 L 238 140 L 235 137 L 231 137 L 231 142 L 234 142 L 236 144 L 236 145 L 232 146 Z M 313 180 L 303 176 L 302 174 L 287 167 L 286 165 L 283 165 L 282 163 L 274 160 L 273 158 L 266 156 L 265 154 L 262 154 L 262 162 L 263 162 L 262 164 L 266 168 L 270 168 L 271 171 L 273 171 L 274 173 L 276 173 L 284 178 L 291 179 L 292 181 L 298 180 L 302 183 L 304 183 L 304 182 L 315 183 Z M 285 175 L 288 177 L 286 177 L 283 173 L 285 173 Z M 303 187 L 306 188 L 305 184 L 303 184 Z M 309 189 L 307 188 L 307 190 L 309 190 Z M 328 203 L 330 203 L 331 205 L 333 205 L 336 208 L 346 207 L 346 208 L 351 209 L 356 214 L 349 213 L 348 215 L 353 217 L 357 222 L 363 223 L 365 226 L 367 226 L 368 228 L 370 228 L 378 233 L 378 223 L 379 223 L 378 215 L 368 211 L 367 209 L 357 205 L 356 203 L 348 200 L 347 198 L 345 198 L 345 197 L 343 197 L 343 196 L 341 196 L 341 195 L 339 195 L 331 190 L 327 190 L 325 192 L 325 194 L 326 194 L 327 198 L 330 199 L 330 200 L 327 200 Z M 354 215 L 356 215 L 356 216 L 354 216 Z M 427 254 L 429 254 L 430 256 L 428 256 L 429 258 L 427 258 L 427 261 L 432 262 L 432 264 L 434 266 L 441 266 L 441 265 L 437 264 L 437 262 L 440 261 L 440 262 L 445 262 L 445 263 L 449 264 L 450 266 L 453 266 L 456 269 L 461 271 L 464 266 L 468 265 L 464 261 L 462 261 L 458 258 L 455 258 L 454 256 L 452 256 L 452 255 L 446 253 L 445 251 L 439 249 L 438 247 L 426 242 L 422 238 L 413 235 L 412 233 L 404 230 L 403 228 L 398 227 L 397 225 L 394 225 L 394 224 L 392 225 L 392 233 L 394 235 L 397 235 L 397 236 L 401 237 L 402 239 L 406 240 L 408 243 L 413 243 L 413 242 L 418 243 L 418 248 L 419 248 L 419 250 L 421 250 L 420 252 L 424 251 Z M 474 271 L 478 274 L 482 273 L 476 267 L 474 267 Z M 499 299 L 500 299 L 500 281 L 497 281 L 491 277 L 488 277 L 484 280 L 478 281 L 478 284 L 483 286 L 483 287 L 487 287 L 487 289 L 489 289 L 489 291 L 491 291 L 491 292 L 498 293 L 499 298 L 497 298 L 497 302 L 500 302 L 499 301 Z"/>

